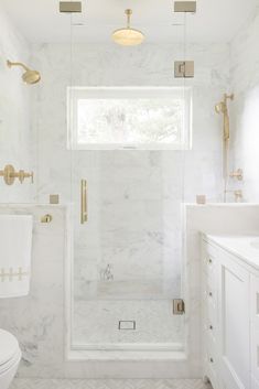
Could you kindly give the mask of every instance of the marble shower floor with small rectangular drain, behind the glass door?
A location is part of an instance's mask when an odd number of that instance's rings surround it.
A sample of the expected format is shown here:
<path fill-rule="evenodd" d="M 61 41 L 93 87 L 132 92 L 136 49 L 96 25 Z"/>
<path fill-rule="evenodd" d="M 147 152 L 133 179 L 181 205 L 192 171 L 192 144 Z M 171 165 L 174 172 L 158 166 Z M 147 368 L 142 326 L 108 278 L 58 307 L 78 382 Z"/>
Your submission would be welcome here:
<path fill-rule="evenodd" d="M 74 346 L 183 343 L 183 320 L 173 315 L 171 300 L 75 301 L 74 307 Z M 134 328 L 120 329 L 120 321 Z"/>

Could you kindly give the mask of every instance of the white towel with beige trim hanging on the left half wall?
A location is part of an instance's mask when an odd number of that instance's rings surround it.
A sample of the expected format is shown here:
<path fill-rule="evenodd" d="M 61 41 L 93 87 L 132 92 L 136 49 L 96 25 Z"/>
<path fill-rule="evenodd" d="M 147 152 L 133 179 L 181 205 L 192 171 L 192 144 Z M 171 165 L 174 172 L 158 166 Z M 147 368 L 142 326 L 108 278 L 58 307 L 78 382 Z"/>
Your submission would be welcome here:
<path fill-rule="evenodd" d="M 32 229 L 32 215 L 0 215 L 1 299 L 30 292 Z"/>

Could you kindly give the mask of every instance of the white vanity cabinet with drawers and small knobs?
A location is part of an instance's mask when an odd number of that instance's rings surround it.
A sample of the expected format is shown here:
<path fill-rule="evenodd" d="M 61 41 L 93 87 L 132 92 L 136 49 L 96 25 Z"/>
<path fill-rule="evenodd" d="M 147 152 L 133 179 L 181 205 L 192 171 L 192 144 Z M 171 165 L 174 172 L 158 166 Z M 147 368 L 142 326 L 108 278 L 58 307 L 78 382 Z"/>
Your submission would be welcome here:
<path fill-rule="evenodd" d="M 204 377 L 214 389 L 259 389 L 259 250 L 257 268 L 224 242 L 203 236 Z"/>

